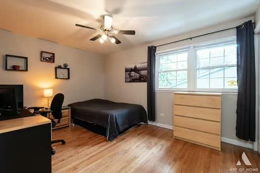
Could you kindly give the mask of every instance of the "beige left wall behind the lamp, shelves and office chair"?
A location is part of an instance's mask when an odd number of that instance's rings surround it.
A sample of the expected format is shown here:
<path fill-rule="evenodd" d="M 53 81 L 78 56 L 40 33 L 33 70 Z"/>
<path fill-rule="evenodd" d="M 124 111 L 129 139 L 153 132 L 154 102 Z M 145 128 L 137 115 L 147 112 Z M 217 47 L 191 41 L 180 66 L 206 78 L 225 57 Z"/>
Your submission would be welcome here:
<path fill-rule="evenodd" d="M 40 61 L 40 51 L 55 53 L 55 63 Z M 28 72 L 4 70 L 4 55 L 28 57 Z M 103 57 L 57 43 L 0 30 L 0 84 L 23 84 L 25 106 L 47 106 L 43 88 L 65 95 L 63 105 L 104 97 Z M 54 79 L 54 67 L 67 63 L 70 80 Z"/>

